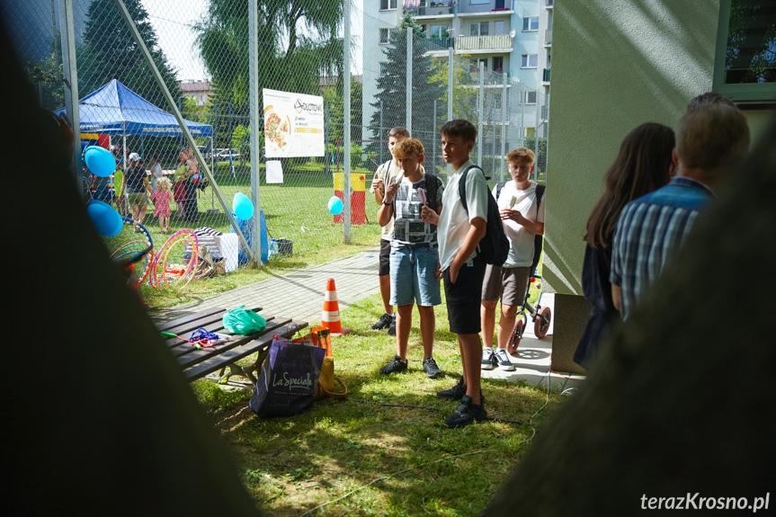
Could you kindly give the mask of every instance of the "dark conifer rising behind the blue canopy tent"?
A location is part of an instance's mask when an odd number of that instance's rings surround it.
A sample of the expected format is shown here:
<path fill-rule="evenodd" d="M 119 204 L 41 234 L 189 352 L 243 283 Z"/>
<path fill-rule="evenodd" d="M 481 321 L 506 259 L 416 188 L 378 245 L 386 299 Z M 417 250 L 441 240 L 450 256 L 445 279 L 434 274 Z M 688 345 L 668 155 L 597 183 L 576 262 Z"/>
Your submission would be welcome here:
<path fill-rule="evenodd" d="M 173 98 L 177 99 L 181 96 L 181 89 L 175 69 L 169 65 L 164 52 L 159 49 L 156 32 L 148 22 L 146 9 L 140 0 L 125 0 L 124 4 L 138 27 L 140 37 L 151 53 L 165 85 L 173 94 Z M 145 58 L 113 0 L 94 0 L 89 4 L 86 16 L 85 48 L 78 56 L 79 92 L 90 94 L 111 79 L 118 79 L 149 103 L 167 110 L 169 106 L 165 105 L 164 95 L 156 85 Z"/>

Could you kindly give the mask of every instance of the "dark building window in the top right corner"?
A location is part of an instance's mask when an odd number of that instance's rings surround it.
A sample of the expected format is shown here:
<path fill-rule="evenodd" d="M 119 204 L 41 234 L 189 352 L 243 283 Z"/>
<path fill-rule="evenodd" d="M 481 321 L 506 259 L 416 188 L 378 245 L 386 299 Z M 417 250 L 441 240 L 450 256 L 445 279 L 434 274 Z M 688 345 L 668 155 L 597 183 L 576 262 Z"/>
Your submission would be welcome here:
<path fill-rule="evenodd" d="M 776 7 L 754 0 L 720 0 L 714 91 L 736 102 L 776 96 Z"/>

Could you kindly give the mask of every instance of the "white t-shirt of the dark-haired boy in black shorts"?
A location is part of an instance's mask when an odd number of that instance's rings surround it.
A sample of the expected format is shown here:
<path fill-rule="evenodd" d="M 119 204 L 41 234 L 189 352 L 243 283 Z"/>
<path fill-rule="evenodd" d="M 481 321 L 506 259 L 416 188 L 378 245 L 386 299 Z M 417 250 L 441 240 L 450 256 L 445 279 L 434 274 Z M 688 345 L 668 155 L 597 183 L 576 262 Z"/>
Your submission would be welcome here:
<path fill-rule="evenodd" d="M 437 227 L 437 238 L 439 239 L 439 263 L 442 271 L 450 267 L 452 259 L 463 245 L 471 227 L 471 219 L 482 218 L 487 220 L 487 196 L 490 192 L 487 190 L 485 175 L 479 169 L 472 169 L 466 176 L 466 202 L 467 210 L 463 208 L 460 202 L 459 182 L 460 176 L 474 165 L 471 160 L 467 160 L 458 170 L 448 178 L 447 186 L 444 188 L 442 196 L 442 213 L 439 216 L 439 226 Z M 468 256 L 467 262 L 477 256 L 475 249 Z"/>

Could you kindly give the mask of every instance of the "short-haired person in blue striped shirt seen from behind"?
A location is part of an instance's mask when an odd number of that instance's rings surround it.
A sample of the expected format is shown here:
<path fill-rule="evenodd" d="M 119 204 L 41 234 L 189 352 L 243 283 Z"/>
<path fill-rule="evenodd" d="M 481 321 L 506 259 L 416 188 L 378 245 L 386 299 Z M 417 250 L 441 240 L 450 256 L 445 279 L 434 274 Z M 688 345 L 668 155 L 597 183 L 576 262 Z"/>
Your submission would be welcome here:
<path fill-rule="evenodd" d="M 627 320 L 681 248 L 731 163 L 749 147 L 744 115 L 721 96 L 701 95 L 679 121 L 673 165 L 676 176 L 622 209 L 611 250 L 611 298 Z M 700 98 L 699 97 L 699 98 Z M 693 100 L 694 101 L 694 100 Z"/>

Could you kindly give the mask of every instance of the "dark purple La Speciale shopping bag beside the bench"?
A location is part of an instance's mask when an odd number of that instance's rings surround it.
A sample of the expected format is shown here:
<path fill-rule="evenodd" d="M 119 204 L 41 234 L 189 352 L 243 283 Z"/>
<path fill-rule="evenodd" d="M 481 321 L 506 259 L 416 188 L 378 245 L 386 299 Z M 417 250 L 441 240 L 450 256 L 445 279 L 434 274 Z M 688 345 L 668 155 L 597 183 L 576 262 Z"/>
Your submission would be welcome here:
<path fill-rule="evenodd" d="M 272 337 L 248 406 L 259 416 L 289 416 L 316 400 L 316 386 L 326 350 Z"/>

